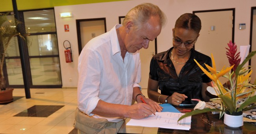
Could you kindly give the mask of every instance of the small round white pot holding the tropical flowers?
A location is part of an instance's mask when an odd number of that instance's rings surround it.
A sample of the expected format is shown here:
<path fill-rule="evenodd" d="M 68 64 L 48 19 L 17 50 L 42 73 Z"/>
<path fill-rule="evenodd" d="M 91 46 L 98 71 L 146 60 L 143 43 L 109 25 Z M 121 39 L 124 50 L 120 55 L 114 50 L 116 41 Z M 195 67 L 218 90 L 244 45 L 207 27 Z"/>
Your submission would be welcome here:
<path fill-rule="evenodd" d="M 224 114 L 224 124 L 228 127 L 241 127 L 243 126 L 243 114 L 239 116 L 232 116 L 229 114 Z"/>

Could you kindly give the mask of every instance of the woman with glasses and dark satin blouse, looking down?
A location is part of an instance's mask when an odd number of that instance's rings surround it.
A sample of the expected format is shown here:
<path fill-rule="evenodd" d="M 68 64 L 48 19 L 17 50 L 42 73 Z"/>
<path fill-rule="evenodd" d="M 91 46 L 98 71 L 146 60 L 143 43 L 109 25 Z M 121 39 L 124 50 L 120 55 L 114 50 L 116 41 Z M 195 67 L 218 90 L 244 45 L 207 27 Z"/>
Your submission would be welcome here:
<path fill-rule="evenodd" d="M 211 58 L 193 49 L 201 20 L 195 14 L 185 13 L 176 20 L 173 32 L 173 47 L 153 56 L 150 63 L 148 97 L 158 103 L 196 104 L 200 99 L 209 101 L 206 87 L 211 79 L 202 72 L 194 59 L 204 68 Z M 161 94 L 158 92 L 161 90 Z"/>

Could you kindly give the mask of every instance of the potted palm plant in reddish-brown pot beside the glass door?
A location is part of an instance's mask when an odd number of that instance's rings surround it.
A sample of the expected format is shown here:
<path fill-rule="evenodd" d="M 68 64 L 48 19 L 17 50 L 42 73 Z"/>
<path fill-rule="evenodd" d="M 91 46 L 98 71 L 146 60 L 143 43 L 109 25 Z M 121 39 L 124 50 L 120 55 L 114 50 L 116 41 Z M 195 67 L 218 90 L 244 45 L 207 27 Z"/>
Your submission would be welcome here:
<path fill-rule="evenodd" d="M 7 47 L 11 45 L 11 40 L 15 36 L 25 39 L 25 35 L 17 31 L 21 22 L 18 20 L 9 20 L 7 14 L 0 14 L 0 104 L 13 101 L 13 88 L 6 87 L 6 79 L 3 72 L 3 67 L 6 63 Z"/>

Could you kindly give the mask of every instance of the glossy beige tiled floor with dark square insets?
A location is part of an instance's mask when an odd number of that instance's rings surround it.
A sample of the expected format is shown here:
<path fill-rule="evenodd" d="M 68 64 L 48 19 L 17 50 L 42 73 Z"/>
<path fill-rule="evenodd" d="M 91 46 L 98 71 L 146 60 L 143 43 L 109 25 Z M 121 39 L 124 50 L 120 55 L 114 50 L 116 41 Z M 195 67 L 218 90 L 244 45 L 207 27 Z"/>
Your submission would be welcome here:
<path fill-rule="evenodd" d="M 148 96 L 146 89 L 142 93 Z M 15 101 L 0 105 L 0 134 L 77 134 L 77 89 L 30 89 L 30 94 L 26 99 L 24 89 L 14 89 Z"/>

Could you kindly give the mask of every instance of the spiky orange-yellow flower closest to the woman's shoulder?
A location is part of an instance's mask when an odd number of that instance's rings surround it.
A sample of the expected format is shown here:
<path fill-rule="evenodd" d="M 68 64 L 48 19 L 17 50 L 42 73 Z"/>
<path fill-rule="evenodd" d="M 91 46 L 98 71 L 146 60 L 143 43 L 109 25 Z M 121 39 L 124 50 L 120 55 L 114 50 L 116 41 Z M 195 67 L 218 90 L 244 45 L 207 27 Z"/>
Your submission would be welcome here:
<path fill-rule="evenodd" d="M 196 64 L 200 67 L 200 69 L 202 69 L 202 71 L 211 79 L 213 80 L 215 83 L 217 83 L 217 80 L 219 77 L 223 76 L 224 74 L 226 74 L 227 72 L 229 72 L 234 65 L 232 65 L 231 67 L 227 67 L 226 69 L 225 66 L 221 69 L 221 71 L 219 73 L 217 73 L 216 71 L 216 65 L 215 65 L 215 61 L 213 58 L 213 54 L 211 54 L 212 57 L 212 63 L 213 63 L 213 67 L 210 67 L 209 65 L 207 65 L 206 63 L 204 63 L 207 67 L 207 69 L 212 73 L 210 74 L 206 69 L 204 69 L 204 67 L 202 67 L 195 59 L 194 61 L 196 62 Z"/>

